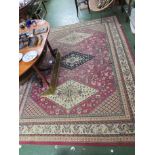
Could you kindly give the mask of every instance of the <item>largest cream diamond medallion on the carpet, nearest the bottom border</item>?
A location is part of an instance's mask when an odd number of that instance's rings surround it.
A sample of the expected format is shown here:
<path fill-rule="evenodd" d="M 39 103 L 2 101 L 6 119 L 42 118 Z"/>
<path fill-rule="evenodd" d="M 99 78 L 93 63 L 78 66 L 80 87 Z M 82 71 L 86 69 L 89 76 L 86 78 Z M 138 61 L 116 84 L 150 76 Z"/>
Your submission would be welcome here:
<path fill-rule="evenodd" d="M 60 85 L 54 95 L 47 96 L 48 99 L 58 103 L 69 111 L 78 103 L 86 100 L 97 92 L 94 88 L 69 80 Z"/>

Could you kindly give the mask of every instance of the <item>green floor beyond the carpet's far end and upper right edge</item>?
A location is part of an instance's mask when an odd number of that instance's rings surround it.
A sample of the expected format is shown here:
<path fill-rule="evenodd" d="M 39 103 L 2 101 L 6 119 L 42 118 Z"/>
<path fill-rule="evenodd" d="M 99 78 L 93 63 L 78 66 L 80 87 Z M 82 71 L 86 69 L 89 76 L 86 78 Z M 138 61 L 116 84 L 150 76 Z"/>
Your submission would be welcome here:
<path fill-rule="evenodd" d="M 74 0 L 48 0 L 46 7 L 48 10 L 46 20 L 50 23 L 52 28 L 100 18 L 100 13 L 94 12 L 92 12 L 91 17 L 91 14 L 89 14 L 87 9 L 79 11 L 78 18 Z M 102 15 L 103 17 L 116 15 L 119 18 L 134 55 L 135 36 L 131 33 L 130 23 L 126 22 L 125 14 L 122 14 L 120 7 L 116 7 L 113 10 L 111 8 L 107 9 L 102 13 Z"/>

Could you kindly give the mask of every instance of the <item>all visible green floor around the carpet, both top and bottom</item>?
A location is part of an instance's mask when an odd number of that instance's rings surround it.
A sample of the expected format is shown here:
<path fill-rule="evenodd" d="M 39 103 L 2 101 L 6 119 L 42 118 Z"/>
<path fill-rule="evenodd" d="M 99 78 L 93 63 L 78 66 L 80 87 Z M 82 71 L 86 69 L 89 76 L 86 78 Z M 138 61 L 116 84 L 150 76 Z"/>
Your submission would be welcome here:
<path fill-rule="evenodd" d="M 77 18 L 74 0 L 48 0 L 46 2 L 48 14 L 46 20 L 52 28 L 63 25 L 78 23 L 85 20 L 100 18 L 100 14 L 92 13 L 87 10 L 79 12 Z M 125 21 L 124 14 L 121 13 L 119 7 L 103 12 L 103 16 L 117 15 L 120 23 L 123 25 L 125 34 L 129 40 L 131 50 L 134 55 L 135 37 L 131 33 L 129 22 Z M 95 147 L 95 146 L 39 146 L 39 145 L 22 145 L 19 150 L 20 155 L 134 155 L 134 147 Z"/>

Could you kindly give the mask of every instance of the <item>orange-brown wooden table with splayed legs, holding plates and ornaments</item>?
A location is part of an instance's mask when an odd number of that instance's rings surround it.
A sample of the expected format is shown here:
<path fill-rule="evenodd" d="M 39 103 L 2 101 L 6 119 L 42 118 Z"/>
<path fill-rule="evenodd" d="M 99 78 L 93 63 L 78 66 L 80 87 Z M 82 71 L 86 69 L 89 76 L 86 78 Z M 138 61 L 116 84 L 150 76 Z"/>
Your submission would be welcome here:
<path fill-rule="evenodd" d="M 32 51 L 32 50 L 35 50 L 38 52 L 38 56 L 34 60 L 32 60 L 30 62 L 23 62 L 21 60 L 19 62 L 19 77 L 21 77 L 30 68 L 33 68 L 36 71 L 36 73 L 40 76 L 42 81 L 45 82 L 49 86 L 48 81 L 43 76 L 43 74 L 40 72 L 40 70 L 37 68 L 36 62 L 39 60 L 40 56 L 42 55 L 45 45 L 48 46 L 52 56 L 55 58 L 55 54 L 53 52 L 53 49 L 51 48 L 51 46 L 47 40 L 48 33 L 50 31 L 50 26 L 49 26 L 49 23 L 45 20 L 36 20 L 36 22 L 37 22 L 36 26 L 31 26 L 29 29 L 25 28 L 24 30 L 20 29 L 19 33 L 31 32 L 31 31 L 33 31 L 33 29 L 38 29 L 41 27 L 48 27 L 48 31 L 46 33 L 41 34 L 43 36 L 43 40 L 42 40 L 42 43 L 40 45 L 37 45 L 35 47 L 25 47 L 19 51 L 20 53 L 23 53 L 23 54 L 25 54 L 29 51 Z"/>

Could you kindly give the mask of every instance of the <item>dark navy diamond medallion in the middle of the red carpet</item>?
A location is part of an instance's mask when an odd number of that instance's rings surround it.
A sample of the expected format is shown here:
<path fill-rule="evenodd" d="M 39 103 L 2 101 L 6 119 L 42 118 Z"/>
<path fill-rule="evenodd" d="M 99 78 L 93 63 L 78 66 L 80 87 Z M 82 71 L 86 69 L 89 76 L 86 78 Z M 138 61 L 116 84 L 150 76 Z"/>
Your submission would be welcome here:
<path fill-rule="evenodd" d="M 72 51 L 62 58 L 61 66 L 72 70 L 91 60 L 92 58 L 92 55 Z"/>

